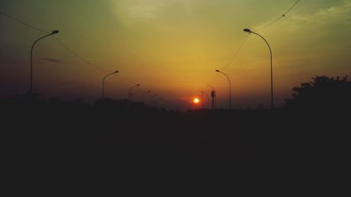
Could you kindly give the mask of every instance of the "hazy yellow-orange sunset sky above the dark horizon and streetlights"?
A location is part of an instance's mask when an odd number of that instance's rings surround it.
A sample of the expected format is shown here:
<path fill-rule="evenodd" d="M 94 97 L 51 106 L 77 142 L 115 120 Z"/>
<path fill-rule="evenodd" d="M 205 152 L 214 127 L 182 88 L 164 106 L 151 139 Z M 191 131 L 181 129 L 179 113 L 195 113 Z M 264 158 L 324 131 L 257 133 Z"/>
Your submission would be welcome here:
<path fill-rule="evenodd" d="M 180 109 L 216 88 L 218 107 L 270 107 L 270 52 L 260 29 L 296 0 L 0 0 L 0 11 L 55 36 L 34 47 L 34 93 L 62 100 L 157 94 Z M 257 30 L 272 48 L 274 103 L 314 76 L 351 75 L 351 0 L 301 0 Z M 30 48 L 44 32 L 0 14 L 0 97 L 29 90 Z M 244 43 L 244 45 L 243 45 Z M 242 46 L 242 47 L 241 47 Z M 239 50 L 240 49 L 240 50 Z M 239 51 L 239 53 L 237 53 Z M 237 55 L 235 55 L 237 54 Z M 234 58 L 233 58 L 234 57 Z M 232 61 L 231 61 L 232 60 Z M 99 69 L 97 69 L 98 67 Z M 207 104 L 206 96 L 204 103 Z"/>

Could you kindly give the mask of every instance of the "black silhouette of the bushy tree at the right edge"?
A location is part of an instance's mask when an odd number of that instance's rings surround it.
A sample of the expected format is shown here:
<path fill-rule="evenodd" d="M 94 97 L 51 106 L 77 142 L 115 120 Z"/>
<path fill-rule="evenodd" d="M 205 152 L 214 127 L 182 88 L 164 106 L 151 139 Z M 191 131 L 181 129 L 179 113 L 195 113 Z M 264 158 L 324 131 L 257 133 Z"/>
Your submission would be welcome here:
<path fill-rule="evenodd" d="M 329 78 L 316 76 L 313 81 L 293 88 L 293 99 L 287 99 L 289 109 L 350 109 L 351 81 L 347 76 Z"/>

